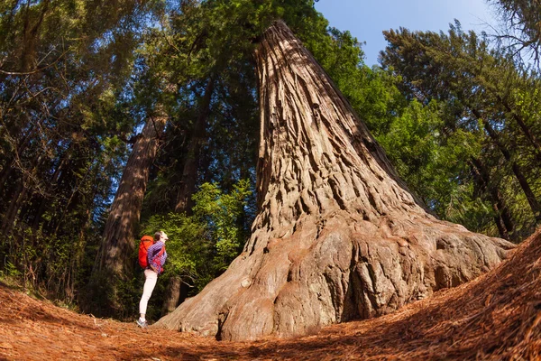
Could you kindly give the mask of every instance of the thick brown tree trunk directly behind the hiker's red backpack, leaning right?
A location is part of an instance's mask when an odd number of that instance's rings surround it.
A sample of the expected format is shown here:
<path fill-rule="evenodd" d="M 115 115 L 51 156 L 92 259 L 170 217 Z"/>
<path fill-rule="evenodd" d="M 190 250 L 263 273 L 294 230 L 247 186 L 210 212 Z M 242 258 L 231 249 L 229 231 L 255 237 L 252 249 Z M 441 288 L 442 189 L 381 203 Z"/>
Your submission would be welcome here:
<path fill-rule="evenodd" d="M 134 231 L 139 223 L 142 199 L 151 163 L 158 149 L 158 139 L 166 122 L 167 115 L 159 108 L 157 116 L 151 116 L 144 125 L 124 167 L 92 270 L 88 292 L 91 300 L 84 301 L 87 310 L 95 315 L 124 315 L 123 306 L 119 302 L 120 286 L 122 282 L 130 281 L 133 275 Z"/>

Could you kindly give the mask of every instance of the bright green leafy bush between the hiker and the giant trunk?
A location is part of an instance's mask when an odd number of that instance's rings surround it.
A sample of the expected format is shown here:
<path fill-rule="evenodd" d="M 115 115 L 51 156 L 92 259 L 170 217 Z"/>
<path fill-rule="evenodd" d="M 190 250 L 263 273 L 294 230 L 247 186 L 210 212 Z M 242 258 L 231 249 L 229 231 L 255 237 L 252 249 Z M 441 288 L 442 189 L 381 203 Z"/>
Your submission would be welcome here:
<path fill-rule="evenodd" d="M 142 227 L 142 234 L 151 235 L 159 229 L 168 234 L 165 278 L 180 275 L 198 292 L 223 273 L 242 252 L 249 236 L 239 220 L 251 194 L 248 180 L 234 184 L 229 193 L 215 183 L 204 183 L 193 196 L 193 215 L 152 216 Z"/>

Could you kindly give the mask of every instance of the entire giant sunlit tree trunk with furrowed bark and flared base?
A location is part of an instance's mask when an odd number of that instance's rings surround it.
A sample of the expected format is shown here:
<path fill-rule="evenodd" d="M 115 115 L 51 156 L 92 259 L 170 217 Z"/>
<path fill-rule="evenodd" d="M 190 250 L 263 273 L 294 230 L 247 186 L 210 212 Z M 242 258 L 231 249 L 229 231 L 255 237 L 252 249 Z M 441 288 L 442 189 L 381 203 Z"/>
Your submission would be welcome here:
<path fill-rule="evenodd" d="M 500 264 L 512 244 L 437 220 L 284 23 L 262 35 L 259 213 L 243 254 L 159 327 L 302 335 L 398 309 Z"/>

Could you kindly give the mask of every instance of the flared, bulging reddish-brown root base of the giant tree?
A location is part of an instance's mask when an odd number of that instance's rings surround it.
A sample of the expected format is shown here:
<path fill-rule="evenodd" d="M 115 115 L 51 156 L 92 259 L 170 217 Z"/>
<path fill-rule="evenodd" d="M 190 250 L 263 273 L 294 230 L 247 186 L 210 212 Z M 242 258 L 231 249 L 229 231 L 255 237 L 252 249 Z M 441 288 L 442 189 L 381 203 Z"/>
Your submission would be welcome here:
<path fill-rule="evenodd" d="M 515 247 L 426 215 L 376 224 L 346 211 L 307 215 L 261 243 L 156 326 L 225 340 L 306 335 L 472 280 Z"/>

